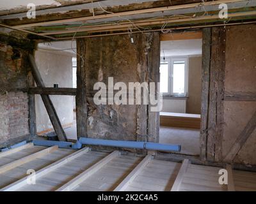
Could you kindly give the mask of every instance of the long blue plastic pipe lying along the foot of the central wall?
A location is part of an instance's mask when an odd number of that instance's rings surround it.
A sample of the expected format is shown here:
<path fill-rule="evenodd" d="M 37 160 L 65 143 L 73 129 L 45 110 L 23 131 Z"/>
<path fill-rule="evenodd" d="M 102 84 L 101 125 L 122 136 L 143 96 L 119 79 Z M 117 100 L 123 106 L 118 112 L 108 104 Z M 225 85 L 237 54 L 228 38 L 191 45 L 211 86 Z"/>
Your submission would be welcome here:
<path fill-rule="evenodd" d="M 124 140 L 101 140 L 95 138 L 79 138 L 76 147 L 83 145 L 103 145 L 110 147 L 122 147 L 132 149 L 148 149 L 148 150 L 163 150 L 163 151 L 177 151 L 180 152 L 180 145 L 169 145 L 154 142 L 135 142 Z"/>

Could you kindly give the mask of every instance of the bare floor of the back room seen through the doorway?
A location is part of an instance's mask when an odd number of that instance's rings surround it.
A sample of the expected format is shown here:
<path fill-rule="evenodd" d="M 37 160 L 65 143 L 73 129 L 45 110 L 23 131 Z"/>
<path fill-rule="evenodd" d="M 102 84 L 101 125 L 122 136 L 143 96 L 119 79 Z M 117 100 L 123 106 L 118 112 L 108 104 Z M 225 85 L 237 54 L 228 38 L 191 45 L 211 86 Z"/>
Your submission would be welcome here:
<path fill-rule="evenodd" d="M 172 143 L 181 145 L 184 154 L 199 155 L 199 129 L 171 128 L 161 126 L 159 131 L 159 143 Z"/>

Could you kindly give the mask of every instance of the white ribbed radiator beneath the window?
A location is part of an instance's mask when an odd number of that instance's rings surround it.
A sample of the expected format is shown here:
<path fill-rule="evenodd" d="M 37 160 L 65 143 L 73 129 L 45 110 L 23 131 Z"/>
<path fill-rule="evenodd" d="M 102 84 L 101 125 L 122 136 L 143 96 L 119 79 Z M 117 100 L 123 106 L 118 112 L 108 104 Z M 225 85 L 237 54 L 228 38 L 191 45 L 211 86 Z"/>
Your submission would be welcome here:
<path fill-rule="evenodd" d="M 186 113 L 186 99 L 163 99 L 161 112 Z"/>

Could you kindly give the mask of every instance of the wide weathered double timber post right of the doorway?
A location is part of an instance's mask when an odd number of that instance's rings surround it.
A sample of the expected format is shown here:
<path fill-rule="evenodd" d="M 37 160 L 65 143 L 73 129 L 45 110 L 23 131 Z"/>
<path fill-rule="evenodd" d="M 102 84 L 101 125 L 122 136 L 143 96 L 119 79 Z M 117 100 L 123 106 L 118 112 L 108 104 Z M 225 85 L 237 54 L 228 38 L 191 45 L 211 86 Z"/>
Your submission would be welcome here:
<path fill-rule="evenodd" d="M 221 161 L 225 78 L 225 28 L 203 29 L 200 158 Z"/>

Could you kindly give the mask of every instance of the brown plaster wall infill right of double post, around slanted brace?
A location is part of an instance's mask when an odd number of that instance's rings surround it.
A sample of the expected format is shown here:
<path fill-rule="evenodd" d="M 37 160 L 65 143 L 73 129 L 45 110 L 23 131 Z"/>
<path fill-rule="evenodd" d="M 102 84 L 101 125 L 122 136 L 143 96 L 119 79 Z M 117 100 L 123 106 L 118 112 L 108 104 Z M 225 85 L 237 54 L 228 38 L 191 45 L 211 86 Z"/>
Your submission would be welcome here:
<path fill-rule="evenodd" d="M 225 92 L 256 92 L 256 25 L 227 27 Z M 223 157 L 256 111 L 255 101 L 224 102 Z M 256 164 L 256 129 L 235 157 Z"/>

